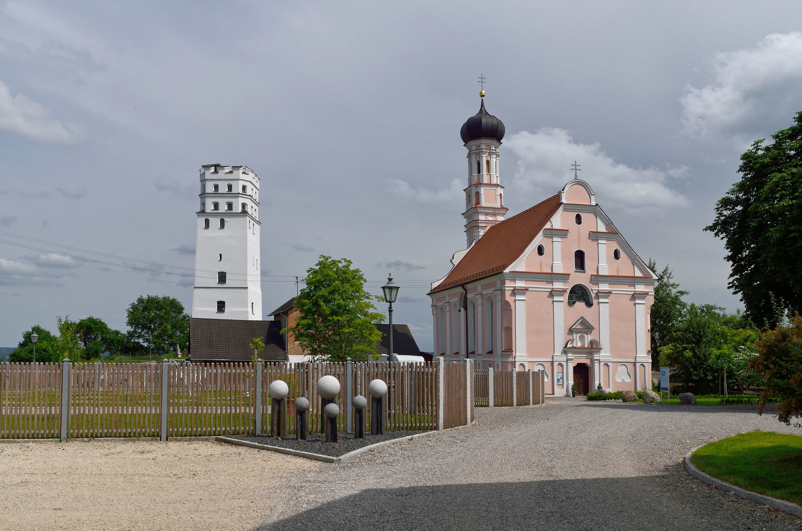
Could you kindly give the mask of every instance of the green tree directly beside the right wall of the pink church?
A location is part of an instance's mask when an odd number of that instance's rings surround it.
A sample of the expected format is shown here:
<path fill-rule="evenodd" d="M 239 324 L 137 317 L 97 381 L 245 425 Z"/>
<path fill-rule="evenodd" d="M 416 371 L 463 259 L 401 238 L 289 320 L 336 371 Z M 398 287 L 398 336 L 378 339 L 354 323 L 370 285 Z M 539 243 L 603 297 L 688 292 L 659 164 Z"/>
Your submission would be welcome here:
<path fill-rule="evenodd" d="M 667 264 L 658 272 L 657 262 L 649 258 L 649 269 L 657 274 L 657 283 L 654 284 L 654 304 L 650 310 L 650 329 L 652 367 L 658 367 L 660 348 L 671 343 L 674 331 L 677 330 L 688 308 L 683 297 L 689 292 L 678 289 L 679 284 L 674 282 L 674 272 Z"/>

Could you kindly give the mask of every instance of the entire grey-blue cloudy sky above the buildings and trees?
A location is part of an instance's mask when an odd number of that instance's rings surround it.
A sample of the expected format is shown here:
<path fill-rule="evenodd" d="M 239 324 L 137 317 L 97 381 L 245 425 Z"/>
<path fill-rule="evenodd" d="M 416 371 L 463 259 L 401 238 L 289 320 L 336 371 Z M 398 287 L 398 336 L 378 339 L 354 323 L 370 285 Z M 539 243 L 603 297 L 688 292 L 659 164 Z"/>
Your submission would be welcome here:
<path fill-rule="evenodd" d="M 0 346 L 59 315 L 124 330 L 140 294 L 190 311 L 198 168 L 221 163 L 261 178 L 265 314 L 347 257 L 375 294 L 403 282 L 395 322 L 431 350 L 423 286 L 464 247 L 480 74 L 509 215 L 577 160 L 689 301 L 740 306 L 703 227 L 751 140 L 802 110 L 802 4 L 289 4 L 0 6 Z"/>

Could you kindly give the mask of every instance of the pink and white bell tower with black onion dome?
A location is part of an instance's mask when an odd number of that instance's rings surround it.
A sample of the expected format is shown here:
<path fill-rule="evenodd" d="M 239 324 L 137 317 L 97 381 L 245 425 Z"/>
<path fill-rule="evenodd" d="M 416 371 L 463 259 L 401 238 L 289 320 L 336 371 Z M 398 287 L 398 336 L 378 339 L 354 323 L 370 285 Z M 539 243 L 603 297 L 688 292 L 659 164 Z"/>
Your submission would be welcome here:
<path fill-rule="evenodd" d="M 499 148 L 504 123 L 484 109 L 463 124 L 460 136 L 468 149 L 468 188 L 465 192 L 465 237 L 470 247 L 493 225 L 504 221 L 504 187 L 499 180 Z"/>

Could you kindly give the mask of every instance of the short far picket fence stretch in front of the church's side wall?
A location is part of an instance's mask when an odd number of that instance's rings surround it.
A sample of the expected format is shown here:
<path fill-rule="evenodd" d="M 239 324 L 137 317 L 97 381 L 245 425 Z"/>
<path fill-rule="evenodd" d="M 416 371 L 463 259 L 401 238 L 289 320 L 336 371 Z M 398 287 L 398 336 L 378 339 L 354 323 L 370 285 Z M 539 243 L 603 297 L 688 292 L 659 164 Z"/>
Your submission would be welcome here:
<path fill-rule="evenodd" d="M 473 373 L 473 403 L 476 407 L 530 406 L 545 402 L 542 371 L 495 371 Z"/>

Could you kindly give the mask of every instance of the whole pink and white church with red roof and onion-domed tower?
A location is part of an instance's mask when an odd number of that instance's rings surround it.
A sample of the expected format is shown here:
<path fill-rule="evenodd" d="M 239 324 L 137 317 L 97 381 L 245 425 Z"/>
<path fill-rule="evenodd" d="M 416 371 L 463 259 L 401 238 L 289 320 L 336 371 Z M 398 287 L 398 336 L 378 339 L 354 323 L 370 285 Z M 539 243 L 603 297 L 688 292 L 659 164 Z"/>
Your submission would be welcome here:
<path fill-rule="evenodd" d="M 484 96 L 484 93 L 481 94 Z M 484 109 L 462 126 L 468 148 L 468 248 L 429 295 L 435 354 L 476 368 L 545 371 L 546 394 L 651 387 L 655 275 L 584 180 L 505 219 L 504 124 Z"/>

